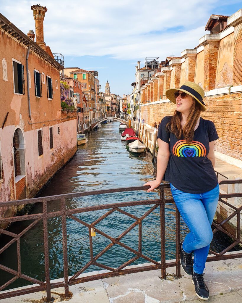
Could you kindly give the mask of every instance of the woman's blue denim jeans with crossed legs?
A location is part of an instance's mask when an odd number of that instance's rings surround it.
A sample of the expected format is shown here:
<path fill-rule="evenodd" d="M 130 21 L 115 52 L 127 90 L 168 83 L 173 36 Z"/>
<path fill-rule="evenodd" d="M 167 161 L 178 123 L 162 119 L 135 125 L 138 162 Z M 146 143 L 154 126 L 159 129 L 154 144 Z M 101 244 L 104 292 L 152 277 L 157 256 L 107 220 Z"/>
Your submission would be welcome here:
<path fill-rule="evenodd" d="M 182 248 L 187 253 L 194 252 L 193 271 L 202 274 L 213 239 L 211 225 L 217 208 L 219 185 L 202 194 L 189 194 L 170 185 L 175 204 L 190 230 Z"/>

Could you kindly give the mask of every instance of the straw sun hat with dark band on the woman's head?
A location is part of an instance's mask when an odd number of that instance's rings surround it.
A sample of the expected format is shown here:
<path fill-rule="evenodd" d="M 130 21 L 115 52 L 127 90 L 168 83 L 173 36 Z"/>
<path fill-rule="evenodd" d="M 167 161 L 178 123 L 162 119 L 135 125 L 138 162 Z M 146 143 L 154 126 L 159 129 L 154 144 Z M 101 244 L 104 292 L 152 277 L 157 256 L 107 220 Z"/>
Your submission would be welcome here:
<path fill-rule="evenodd" d="M 204 98 L 204 90 L 198 84 L 194 82 L 185 82 L 180 88 L 170 88 L 165 92 L 166 97 L 176 104 L 175 93 L 181 91 L 192 96 L 201 105 L 201 111 L 206 110 L 205 103 L 202 101 Z"/>

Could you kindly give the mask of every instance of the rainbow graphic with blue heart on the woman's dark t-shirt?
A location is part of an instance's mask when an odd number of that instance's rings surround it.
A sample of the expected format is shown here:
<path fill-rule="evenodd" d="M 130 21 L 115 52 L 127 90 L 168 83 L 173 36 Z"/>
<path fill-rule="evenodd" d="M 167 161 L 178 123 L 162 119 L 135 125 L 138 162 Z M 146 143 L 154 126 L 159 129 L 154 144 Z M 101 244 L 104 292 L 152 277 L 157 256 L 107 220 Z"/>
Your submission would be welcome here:
<path fill-rule="evenodd" d="M 190 142 L 190 145 L 186 143 L 186 140 L 179 140 L 175 143 L 172 149 L 173 155 L 177 157 L 205 157 L 206 148 L 198 141 Z"/>

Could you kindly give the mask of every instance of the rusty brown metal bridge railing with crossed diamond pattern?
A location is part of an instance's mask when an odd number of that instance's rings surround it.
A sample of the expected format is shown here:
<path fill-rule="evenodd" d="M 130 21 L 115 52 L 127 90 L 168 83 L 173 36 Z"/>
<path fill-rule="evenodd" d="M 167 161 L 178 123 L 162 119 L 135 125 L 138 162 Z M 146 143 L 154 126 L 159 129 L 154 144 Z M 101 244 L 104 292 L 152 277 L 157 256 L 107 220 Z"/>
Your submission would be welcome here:
<path fill-rule="evenodd" d="M 242 183 L 241 180 L 225 180 L 221 182 L 222 184 L 235 184 L 235 183 Z M 113 276 L 120 276 L 125 274 L 131 274 L 135 272 L 141 272 L 141 271 L 149 271 L 149 270 L 161 270 L 161 278 L 166 278 L 166 268 L 175 266 L 176 268 L 176 276 L 180 277 L 180 214 L 175 206 L 175 243 L 176 243 L 176 259 L 172 262 L 166 262 L 165 258 L 165 205 L 167 203 L 174 203 L 173 199 L 165 198 L 165 188 L 169 188 L 169 184 L 162 184 L 159 186 L 159 198 L 153 199 L 153 200 L 141 200 L 141 201 L 130 201 L 130 202 L 119 202 L 119 203 L 113 203 L 113 204 L 100 204 L 95 206 L 88 206 L 83 208 L 74 208 L 74 209 L 67 209 L 66 200 L 70 198 L 77 198 L 77 197 L 84 197 L 84 196 L 90 196 L 90 195 L 100 195 L 100 194 L 108 194 L 108 193 L 118 193 L 118 192 L 127 192 L 127 191 L 139 191 L 139 190 L 147 190 L 149 186 L 138 186 L 138 187 L 127 187 L 127 188 L 114 188 L 114 189 L 108 189 L 108 190 L 94 190 L 94 191 L 86 191 L 86 192 L 77 192 L 77 193 L 70 193 L 70 194 L 64 194 L 64 195 L 54 195 L 54 196 L 48 196 L 48 197 L 41 197 L 41 198 L 32 198 L 32 199 L 25 199 L 25 200 L 17 200 L 17 201 L 7 201 L 7 202 L 1 202 L 0 207 L 10 207 L 10 206 L 17 206 L 17 205 L 23 205 L 23 204 L 31 204 L 31 203 L 41 203 L 42 204 L 42 212 L 36 213 L 36 214 L 30 214 L 30 215 L 20 215 L 16 217 L 10 217 L 10 218 L 0 218 L 0 224 L 9 224 L 12 222 L 19 222 L 19 221 L 28 221 L 28 220 L 34 220 L 31 224 L 29 224 L 23 231 L 21 231 L 19 234 L 15 234 L 14 232 L 10 232 L 7 230 L 0 229 L 0 233 L 10 236 L 12 239 L 4 245 L 0 249 L 0 254 L 5 251 L 11 244 L 17 242 L 17 260 L 18 260 L 18 270 L 13 270 L 11 268 L 8 268 L 2 264 L 0 264 L 0 269 L 3 271 L 6 271 L 12 275 L 14 275 L 14 278 L 12 278 L 10 281 L 6 282 L 4 285 L 0 286 L 0 291 L 5 289 L 7 286 L 9 286 L 12 282 L 14 282 L 18 278 L 25 279 L 27 281 L 30 281 L 34 284 L 38 284 L 39 286 L 34 287 L 27 287 L 23 289 L 17 289 L 12 290 L 4 293 L 0 293 L 0 299 L 3 298 L 11 298 L 18 295 L 38 292 L 38 291 L 46 291 L 47 295 L 47 301 L 51 301 L 51 289 L 53 288 L 59 288 L 64 287 L 65 290 L 65 296 L 69 296 L 69 285 L 74 285 L 78 283 L 83 283 L 86 281 L 93 281 L 97 279 L 102 278 L 108 278 Z M 230 206 L 234 212 L 223 222 L 220 224 L 214 223 L 213 225 L 215 229 L 213 230 L 213 233 L 219 231 L 224 232 L 226 235 L 234 239 L 234 243 L 229 245 L 227 248 L 225 248 L 220 253 L 216 253 L 214 251 L 210 250 L 210 253 L 214 254 L 214 256 L 209 256 L 207 261 L 215 261 L 215 260 L 224 260 L 224 259 L 231 259 L 231 258 L 241 258 L 242 253 L 234 252 L 232 254 L 224 255 L 227 251 L 229 251 L 231 248 L 233 248 L 238 243 L 242 244 L 242 241 L 240 239 L 240 211 L 242 209 L 242 206 L 239 208 L 229 204 L 227 201 L 224 200 L 224 198 L 233 198 L 233 197 L 241 197 L 242 193 L 235 193 L 235 194 L 226 194 L 226 195 L 220 195 L 219 200 L 225 203 L 226 205 Z M 47 205 L 50 204 L 52 201 L 61 201 L 61 210 L 60 211 L 47 211 Z M 101 201 L 100 201 L 101 203 Z M 133 215 L 129 213 L 128 211 L 124 210 L 123 208 L 130 207 L 130 206 L 138 206 L 138 205 L 146 205 L 149 206 L 149 209 L 146 209 L 146 212 L 138 217 L 137 215 Z M 121 209 L 122 208 L 122 209 Z M 145 253 L 142 251 L 142 246 L 144 239 L 142 239 L 142 221 L 149 216 L 155 209 L 159 209 L 159 229 L 160 229 L 160 243 L 161 243 L 161 259 L 160 261 L 155 261 L 154 259 L 150 258 L 149 256 L 145 255 Z M 92 221 L 92 223 L 87 223 L 80 218 L 78 218 L 76 215 L 80 213 L 87 213 L 91 211 L 99 211 L 99 210 L 107 210 L 107 212 L 100 216 L 98 219 L 95 217 L 95 221 Z M 113 212 L 119 212 L 125 216 L 128 216 L 129 218 L 132 218 L 134 222 L 127 227 L 125 231 L 123 231 L 118 237 L 114 238 L 99 228 L 96 228 L 96 225 L 101 222 L 104 218 L 107 218 L 109 215 L 111 215 Z M 228 232 L 224 228 L 224 224 L 227 223 L 231 218 L 234 216 L 237 216 L 237 235 L 232 235 L 230 232 Z M 61 217 L 62 222 L 62 246 L 63 246 L 63 256 L 64 256 L 64 281 L 60 282 L 52 282 L 50 280 L 50 267 L 49 267 L 49 244 L 48 244 L 48 219 L 49 218 L 56 218 Z M 72 270 L 73 268 L 70 268 L 68 265 L 68 251 L 67 251 L 67 218 L 71 218 L 78 223 L 80 223 L 81 226 L 85 226 L 88 228 L 88 234 L 89 234 L 89 245 L 90 245 L 90 261 L 87 262 L 86 265 L 84 265 L 79 271 L 77 271 L 70 279 L 68 278 L 68 270 Z M 32 278 L 30 276 L 27 276 L 22 273 L 21 271 L 21 251 L 20 251 L 20 238 L 25 235 L 27 231 L 29 231 L 31 228 L 33 228 L 38 222 L 43 222 L 43 231 L 44 231 L 44 260 L 45 260 L 45 279 L 46 281 L 40 281 L 36 278 Z M 133 249 L 130 246 L 124 244 L 122 241 L 122 238 L 129 233 L 133 228 L 138 226 L 138 249 Z M 111 243 L 107 245 L 102 251 L 100 251 L 97 255 L 93 254 L 93 239 L 91 235 L 91 228 L 95 228 L 96 233 L 99 235 L 102 235 L 103 237 L 109 239 Z M 110 231 L 112 227 L 110 225 Z M 129 261 L 126 261 L 124 264 L 120 265 L 118 268 L 113 268 L 109 265 L 103 265 L 101 264 L 98 259 L 111 247 L 114 245 L 119 245 L 122 248 L 125 248 L 127 251 L 131 251 L 135 257 L 131 258 Z M 60 252 L 62 253 L 62 252 Z M 115 256 L 113 255 L 113 258 Z M 148 262 L 151 262 L 152 265 L 141 265 L 136 266 L 132 268 L 127 268 L 128 265 L 133 263 L 134 261 L 138 260 L 139 258 L 143 258 L 147 260 Z M 86 269 L 88 269 L 91 265 L 99 266 L 100 268 L 103 268 L 105 270 L 108 270 L 108 272 L 101 272 L 99 274 L 90 275 L 88 273 L 87 276 L 80 276 Z"/>

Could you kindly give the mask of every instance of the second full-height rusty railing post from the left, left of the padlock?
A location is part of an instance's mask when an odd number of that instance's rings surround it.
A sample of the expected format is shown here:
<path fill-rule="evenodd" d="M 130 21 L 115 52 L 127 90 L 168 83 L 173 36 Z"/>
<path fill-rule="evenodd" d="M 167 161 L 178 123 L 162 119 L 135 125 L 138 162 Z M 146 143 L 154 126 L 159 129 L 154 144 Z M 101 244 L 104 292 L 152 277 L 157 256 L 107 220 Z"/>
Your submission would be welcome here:
<path fill-rule="evenodd" d="M 61 223 L 62 223 L 62 244 L 64 258 L 64 288 L 65 297 L 69 297 L 69 281 L 68 281 L 68 256 L 67 256 L 67 229 L 66 229 L 66 200 L 61 199 Z"/>

